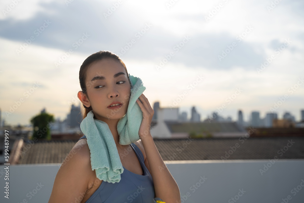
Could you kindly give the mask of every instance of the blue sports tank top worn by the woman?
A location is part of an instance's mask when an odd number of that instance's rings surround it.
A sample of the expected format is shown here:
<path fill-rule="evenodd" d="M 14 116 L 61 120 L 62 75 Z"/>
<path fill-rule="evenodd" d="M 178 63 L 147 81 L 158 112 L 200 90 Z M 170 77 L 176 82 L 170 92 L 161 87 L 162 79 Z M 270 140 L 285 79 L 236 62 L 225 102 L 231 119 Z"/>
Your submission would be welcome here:
<path fill-rule="evenodd" d="M 86 136 L 83 135 L 80 139 L 82 138 L 86 138 Z M 143 175 L 132 173 L 123 167 L 123 173 L 120 174 L 121 179 L 118 183 L 109 183 L 103 180 L 85 203 L 152 202 L 152 199 L 155 198 L 152 175 L 144 164 L 143 153 L 134 143 L 131 143 L 131 146 L 143 169 Z"/>

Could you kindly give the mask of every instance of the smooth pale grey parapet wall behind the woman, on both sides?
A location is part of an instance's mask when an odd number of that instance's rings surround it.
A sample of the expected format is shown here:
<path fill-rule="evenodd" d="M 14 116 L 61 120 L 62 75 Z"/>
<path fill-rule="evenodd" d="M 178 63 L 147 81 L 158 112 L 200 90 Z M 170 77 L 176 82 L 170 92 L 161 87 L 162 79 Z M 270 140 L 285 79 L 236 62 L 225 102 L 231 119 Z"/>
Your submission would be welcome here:
<path fill-rule="evenodd" d="M 285 199 L 285 203 L 294 203 L 304 200 L 303 159 L 165 163 L 178 183 L 181 202 L 280 203 Z M 4 198 L 4 167 L 0 166 L 1 203 L 48 202 L 60 164 L 9 166 L 9 199 Z"/>

